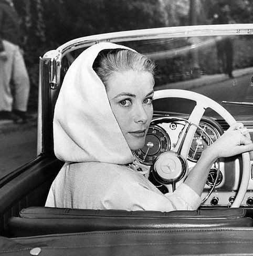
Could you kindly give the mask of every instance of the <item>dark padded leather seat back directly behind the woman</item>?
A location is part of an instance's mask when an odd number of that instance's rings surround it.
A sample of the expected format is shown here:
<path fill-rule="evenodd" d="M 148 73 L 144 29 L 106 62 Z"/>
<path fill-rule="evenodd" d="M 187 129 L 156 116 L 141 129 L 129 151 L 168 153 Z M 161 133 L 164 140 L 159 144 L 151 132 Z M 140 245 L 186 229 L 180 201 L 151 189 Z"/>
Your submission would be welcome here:
<path fill-rule="evenodd" d="M 250 227 L 244 208 L 196 211 L 124 211 L 30 207 L 7 221 L 11 237 L 122 229 Z"/>

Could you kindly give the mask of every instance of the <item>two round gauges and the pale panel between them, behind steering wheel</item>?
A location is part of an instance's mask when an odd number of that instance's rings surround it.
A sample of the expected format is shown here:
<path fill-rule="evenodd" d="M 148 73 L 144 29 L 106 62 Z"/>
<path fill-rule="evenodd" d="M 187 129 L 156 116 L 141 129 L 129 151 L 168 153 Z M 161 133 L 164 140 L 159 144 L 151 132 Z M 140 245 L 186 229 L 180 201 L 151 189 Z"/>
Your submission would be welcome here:
<path fill-rule="evenodd" d="M 144 165 L 152 165 L 162 152 L 175 148 L 181 131 L 186 124 L 184 119 L 159 118 L 152 121 L 146 134 L 145 146 L 134 151 L 134 155 Z M 197 162 L 202 152 L 214 142 L 220 133 L 208 121 L 201 121 L 193 137 L 187 160 Z"/>

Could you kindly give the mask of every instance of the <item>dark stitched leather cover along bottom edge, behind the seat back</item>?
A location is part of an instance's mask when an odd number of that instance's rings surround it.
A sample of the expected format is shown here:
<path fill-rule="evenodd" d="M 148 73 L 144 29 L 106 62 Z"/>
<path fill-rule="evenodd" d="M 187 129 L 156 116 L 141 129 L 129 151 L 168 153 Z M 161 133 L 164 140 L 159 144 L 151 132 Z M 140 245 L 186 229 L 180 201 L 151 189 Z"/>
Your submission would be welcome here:
<path fill-rule="evenodd" d="M 252 255 L 253 228 L 112 230 L 13 239 L 0 237 L 0 245 L 1 256 L 238 256 Z M 37 254 L 31 253 L 33 251 Z"/>

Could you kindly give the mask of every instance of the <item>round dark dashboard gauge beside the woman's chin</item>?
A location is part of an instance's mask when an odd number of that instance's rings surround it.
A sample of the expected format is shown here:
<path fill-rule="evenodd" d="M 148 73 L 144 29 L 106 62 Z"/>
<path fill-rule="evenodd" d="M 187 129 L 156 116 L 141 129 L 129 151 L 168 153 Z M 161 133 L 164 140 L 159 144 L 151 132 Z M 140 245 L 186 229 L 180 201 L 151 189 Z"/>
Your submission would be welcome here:
<path fill-rule="evenodd" d="M 134 155 L 145 165 L 152 165 L 160 153 L 170 150 L 170 139 L 160 126 L 150 126 L 145 138 L 145 146 L 134 150 Z"/>

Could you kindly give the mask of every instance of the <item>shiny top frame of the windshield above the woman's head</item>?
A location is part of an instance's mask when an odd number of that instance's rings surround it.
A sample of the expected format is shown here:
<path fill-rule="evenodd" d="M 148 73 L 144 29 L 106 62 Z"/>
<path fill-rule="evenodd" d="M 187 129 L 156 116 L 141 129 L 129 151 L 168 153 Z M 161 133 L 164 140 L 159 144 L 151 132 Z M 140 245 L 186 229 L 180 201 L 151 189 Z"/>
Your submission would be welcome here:
<path fill-rule="evenodd" d="M 92 36 L 85 36 L 70 40 L 56 50 L 44 55 L 45 58 L 54 58 L 60 61 L 70 50 L 88 47 L 100 42 L 119 43 L 133 40 L 147 40 L 157 38 L 191 37 L 191 36 L 219 36 L 219 35 L 247 35 L 253 34 L 253 24 L 225 24 L 149 28 L 128 30 Z"/>

